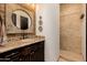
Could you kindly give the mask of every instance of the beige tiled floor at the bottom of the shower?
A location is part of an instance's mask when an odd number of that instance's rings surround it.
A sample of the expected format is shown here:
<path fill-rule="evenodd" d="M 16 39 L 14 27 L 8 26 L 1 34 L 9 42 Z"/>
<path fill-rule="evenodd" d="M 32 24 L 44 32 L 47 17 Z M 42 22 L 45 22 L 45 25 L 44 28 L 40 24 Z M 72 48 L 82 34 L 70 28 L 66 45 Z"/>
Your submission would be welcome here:
<path fill-rule="evenodd" d="M 70 51 L 61 51 L 58 62 L 84 62 L 83 55 Z"/>

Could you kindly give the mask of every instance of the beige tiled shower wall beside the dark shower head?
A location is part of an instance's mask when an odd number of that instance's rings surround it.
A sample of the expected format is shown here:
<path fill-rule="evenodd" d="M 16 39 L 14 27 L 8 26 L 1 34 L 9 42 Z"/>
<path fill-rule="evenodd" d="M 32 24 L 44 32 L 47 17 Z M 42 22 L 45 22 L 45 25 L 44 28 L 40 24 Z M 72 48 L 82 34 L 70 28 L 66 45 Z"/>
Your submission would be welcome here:
<path fill-rule="evenodd" d="M 81 4 L 61 4 L 61 48 L 81 53 Z"/>

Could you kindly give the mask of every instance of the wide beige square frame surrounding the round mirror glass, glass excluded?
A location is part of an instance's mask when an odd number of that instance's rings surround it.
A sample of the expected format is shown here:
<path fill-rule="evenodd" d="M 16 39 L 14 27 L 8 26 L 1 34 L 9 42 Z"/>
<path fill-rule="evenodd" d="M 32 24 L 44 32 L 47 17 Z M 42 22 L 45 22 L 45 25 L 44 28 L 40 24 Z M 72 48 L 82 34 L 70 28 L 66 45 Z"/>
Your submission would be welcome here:
<path fill-rule="evenodd" d="M 6 4 L 7 34 L 22 33 L 22 30 L 14 26 L 14 24 L 12 22 L 12 19 L 11 19 L 12 12 L 15 11 L 15 10 L 26 11 L 30 14 L 31 19 L 32 19 L 32 22 L 31 22 L 32 24 L 31 24 L 30 29 L 24 30 L 23 33 L 35 34 L 35 11 L 32 10 L 31 8 L 30 8 L 30 10 L 26 9 L 21 3 L 20 4 L 18 4 L 18 3 L 7 3 Z"/>

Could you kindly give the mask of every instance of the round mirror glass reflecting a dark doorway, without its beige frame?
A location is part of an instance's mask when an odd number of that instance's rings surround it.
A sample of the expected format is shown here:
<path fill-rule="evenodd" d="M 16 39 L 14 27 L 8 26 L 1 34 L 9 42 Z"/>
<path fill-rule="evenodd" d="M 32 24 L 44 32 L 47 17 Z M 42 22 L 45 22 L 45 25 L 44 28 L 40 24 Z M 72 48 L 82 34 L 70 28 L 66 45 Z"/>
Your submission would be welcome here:
<path fill-rule="evenodd" d="M 15 10 L 12 12 L 12 23 L 14 26 L 21 29 L 21 30 L 28 30 L 31 26 L 31 17 L 28 12 L 23 10 Z"/>

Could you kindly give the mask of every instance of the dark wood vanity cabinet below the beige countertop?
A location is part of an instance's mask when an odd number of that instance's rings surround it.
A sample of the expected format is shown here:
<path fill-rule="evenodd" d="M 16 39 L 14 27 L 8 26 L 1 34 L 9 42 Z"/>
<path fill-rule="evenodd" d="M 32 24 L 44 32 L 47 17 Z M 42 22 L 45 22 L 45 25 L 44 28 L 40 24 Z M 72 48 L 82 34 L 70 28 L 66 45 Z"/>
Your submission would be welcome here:
<path fill-rule="evenodd" d="M 44 41 L 1 53 L 0 62 L 44 62 Z"/>

